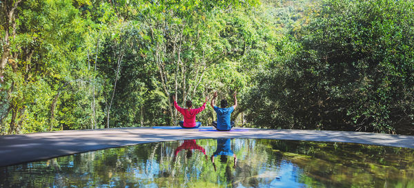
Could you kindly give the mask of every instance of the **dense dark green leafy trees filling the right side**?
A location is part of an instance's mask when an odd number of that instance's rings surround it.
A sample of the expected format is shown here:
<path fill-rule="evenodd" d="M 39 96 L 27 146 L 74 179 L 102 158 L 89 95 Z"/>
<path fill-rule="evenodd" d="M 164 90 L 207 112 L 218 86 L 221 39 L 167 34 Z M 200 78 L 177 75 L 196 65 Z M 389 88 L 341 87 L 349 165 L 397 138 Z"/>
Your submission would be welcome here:
<path fill-rule="evenodd" d="M 295 56 L 274 61 L 259 76 L 264 84 L 253 94 L 272 118 L 251 116 L 252 121 L 264 127 L 413 134 L 413 6 L 324 1 L 300 31 Z"/>

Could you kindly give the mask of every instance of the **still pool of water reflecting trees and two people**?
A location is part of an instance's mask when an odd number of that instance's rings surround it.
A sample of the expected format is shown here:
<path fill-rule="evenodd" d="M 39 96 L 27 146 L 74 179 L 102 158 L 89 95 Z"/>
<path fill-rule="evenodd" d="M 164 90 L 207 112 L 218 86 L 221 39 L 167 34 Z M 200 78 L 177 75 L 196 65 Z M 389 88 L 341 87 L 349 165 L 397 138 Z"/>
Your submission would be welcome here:
<path fill-rule="evenodd" d="M 0 187 L 414 187 L 414 149 L 179 140 L 0 167 Z"/>

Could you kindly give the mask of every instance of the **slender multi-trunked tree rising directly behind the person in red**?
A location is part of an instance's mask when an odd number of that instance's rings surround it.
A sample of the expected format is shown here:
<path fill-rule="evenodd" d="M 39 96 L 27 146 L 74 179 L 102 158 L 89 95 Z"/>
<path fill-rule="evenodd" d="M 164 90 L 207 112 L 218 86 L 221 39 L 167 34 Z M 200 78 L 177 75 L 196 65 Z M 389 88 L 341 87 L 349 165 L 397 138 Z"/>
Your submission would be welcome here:
<path fill-rule="evenodd" d="M 255 3 L 248 1 L 243 6 Z M 238 1 L 144 1 L 139 5 L 137 16 L 146 25 L 142 37 L 148 41 L 144 52 L 148 61 L 157 65 L 159 83 L 168 98 L 170 122 L 175 124 L 177 112 L 173 110 L 170 96 L 174 94 L 178 98 L 181 94 L 184 104 L 189 94 L 194 96 L 208 67 L 231 51 L 225 43 L 209 37 L 209 34 L 217 37 L 219 33 L 208 32 L 210 25 L 206 19 L 220 8 L 240 4 Z"/>

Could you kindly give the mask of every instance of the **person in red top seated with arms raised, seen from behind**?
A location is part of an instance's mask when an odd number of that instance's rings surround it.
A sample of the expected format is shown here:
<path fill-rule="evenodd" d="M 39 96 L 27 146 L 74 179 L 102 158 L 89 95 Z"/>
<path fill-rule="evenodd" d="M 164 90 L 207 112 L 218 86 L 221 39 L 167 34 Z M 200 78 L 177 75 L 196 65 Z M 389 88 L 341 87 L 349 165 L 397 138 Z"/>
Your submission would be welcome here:
<path fill-rule="evenodd" d="M 186 129 L 200 127 L 201 122 L 199 121 L 195 122 L 195 115 L 197 115 L 199 112 L 206 109 L 206 102 L 208 101 L 208 96 L 206 96 L 206 101 L 204 102 L 204 104 L 201 107 L 195 108 L 195 109 L 193 109 L 193 102 L 191 101 L 186 101 L 187 109 L 184 109 L 184 108 L 179 107 L 179 105 L 177 105 L 177 101 L 175 101 L 175 96 L 172 96 L 172 100 L 174 101 L 175 109 L 177 109 L 178 112 L 183 114 L 184 116 L 184 121 L 180 121 L 179 126 L 186 128 Z"/>

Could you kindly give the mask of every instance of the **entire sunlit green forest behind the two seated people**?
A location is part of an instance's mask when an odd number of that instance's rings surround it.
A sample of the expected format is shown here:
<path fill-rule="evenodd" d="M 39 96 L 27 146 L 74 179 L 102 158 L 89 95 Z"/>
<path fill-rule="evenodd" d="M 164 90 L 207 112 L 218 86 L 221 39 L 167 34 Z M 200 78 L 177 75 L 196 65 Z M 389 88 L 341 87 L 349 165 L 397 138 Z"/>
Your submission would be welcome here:
<path fill-rule="evenodd" d="M 238 127 L 414 134 L 412 0 L 0 6 L 0 134 L 177 125 L 214 91 Z"/>

